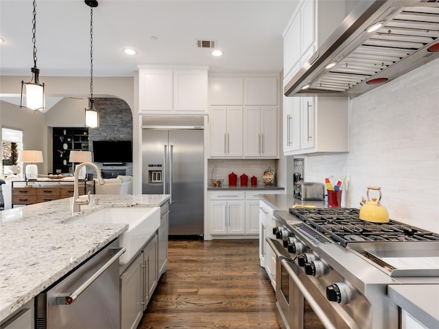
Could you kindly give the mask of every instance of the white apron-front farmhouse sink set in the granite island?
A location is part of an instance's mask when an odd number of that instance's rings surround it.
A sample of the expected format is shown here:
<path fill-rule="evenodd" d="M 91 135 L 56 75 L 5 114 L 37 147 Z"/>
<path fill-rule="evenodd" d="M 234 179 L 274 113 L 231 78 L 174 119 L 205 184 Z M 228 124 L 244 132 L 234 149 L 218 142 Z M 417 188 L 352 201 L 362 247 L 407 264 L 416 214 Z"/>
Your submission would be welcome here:
<path fill-rule="evenodd" d="M 128 224 L 128 230 L 119 236 L 119 246 L 126 249 L 119 262 L 125 265 L 160 226 L 160 207 L 104 208 L 68 223 Z"/>

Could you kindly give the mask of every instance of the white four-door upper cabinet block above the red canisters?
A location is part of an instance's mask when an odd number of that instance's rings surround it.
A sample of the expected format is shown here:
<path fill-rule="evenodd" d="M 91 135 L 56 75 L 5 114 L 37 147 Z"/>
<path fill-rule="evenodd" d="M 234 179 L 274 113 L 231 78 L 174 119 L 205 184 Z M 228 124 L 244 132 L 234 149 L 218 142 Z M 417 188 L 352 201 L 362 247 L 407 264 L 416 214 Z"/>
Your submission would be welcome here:
<path fill-rule="evenodd" d="M 278 98 L 275 74 L 209 77 L 210 156 L 278 158 Z"/>

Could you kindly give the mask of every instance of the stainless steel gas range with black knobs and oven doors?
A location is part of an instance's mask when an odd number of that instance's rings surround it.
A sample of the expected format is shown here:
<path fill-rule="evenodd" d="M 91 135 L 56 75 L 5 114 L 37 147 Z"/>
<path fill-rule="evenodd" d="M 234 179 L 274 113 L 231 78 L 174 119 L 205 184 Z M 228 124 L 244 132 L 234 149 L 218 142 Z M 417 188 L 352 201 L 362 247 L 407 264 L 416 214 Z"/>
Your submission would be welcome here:
<path fill-rule="evenodd" d="M 355 208 L 274 212 L 267 241 L 277 256 L 283 328 L 399 329 L 388 285 L 439 283 L 439 234 L 358 215 Z"/>

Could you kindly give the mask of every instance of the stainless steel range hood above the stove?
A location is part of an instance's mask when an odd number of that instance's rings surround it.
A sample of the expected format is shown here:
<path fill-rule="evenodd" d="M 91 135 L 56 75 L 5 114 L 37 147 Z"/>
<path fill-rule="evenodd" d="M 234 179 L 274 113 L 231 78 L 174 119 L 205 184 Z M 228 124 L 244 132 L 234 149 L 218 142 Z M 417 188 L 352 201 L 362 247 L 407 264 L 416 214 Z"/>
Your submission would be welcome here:
<path fill-rule="evenodd" d="M 379 22 L 376 32 L 366 32 Z M 438 48 L 439 0 L 362 0 L 284 93 L 355 97 L 439 58 Z"/>

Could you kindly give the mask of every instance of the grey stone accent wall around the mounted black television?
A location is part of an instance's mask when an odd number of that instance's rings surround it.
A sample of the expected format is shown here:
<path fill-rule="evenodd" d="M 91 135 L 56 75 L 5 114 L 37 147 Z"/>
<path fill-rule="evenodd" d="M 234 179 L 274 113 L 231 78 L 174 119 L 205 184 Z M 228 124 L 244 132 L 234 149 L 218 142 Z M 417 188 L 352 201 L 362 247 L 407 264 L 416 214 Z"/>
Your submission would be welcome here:
<path fill-rule="evenodd" d="M 88 130 L 88 149 L 93 152 L 93 141 L 132 141 L 132 114 L 130 107 L 118 98 L 96 98 L 95 107 L 99 111 L 100 125 Z M 94 161 L 93 161 L 94 162 Z M 124 166 L 103 166 L 95 162 L 100 169 L 125 169 L 132 175 L 132 162 Z M 94 173 L 93 169 L 90 173 Z"/>

